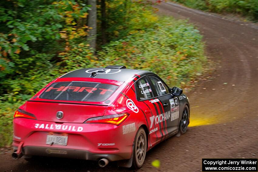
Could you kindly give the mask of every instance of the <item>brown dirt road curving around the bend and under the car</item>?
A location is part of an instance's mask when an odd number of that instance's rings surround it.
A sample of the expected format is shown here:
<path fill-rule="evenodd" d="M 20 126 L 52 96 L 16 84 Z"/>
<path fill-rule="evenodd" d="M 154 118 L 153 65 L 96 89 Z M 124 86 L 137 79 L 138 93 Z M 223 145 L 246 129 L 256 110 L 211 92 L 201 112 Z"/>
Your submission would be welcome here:
<path fill-rule="evenodd" d="M 159 13 L 187 19 L 204 36 L 207 56 L 216 71 L 188 93 L 188 132 L 171 137 L 147 153 L 138 171 L 201 171 L 202 158 L 258 157 L 258 37 L 257 25 L 223 19 L 172 3 L 157 5 Z M 160 168 L 151 165 L 160 160 Z M 51 159 L 36 164 L 0 155 L 0 171 L 130 171 L 110 164 Z"/>

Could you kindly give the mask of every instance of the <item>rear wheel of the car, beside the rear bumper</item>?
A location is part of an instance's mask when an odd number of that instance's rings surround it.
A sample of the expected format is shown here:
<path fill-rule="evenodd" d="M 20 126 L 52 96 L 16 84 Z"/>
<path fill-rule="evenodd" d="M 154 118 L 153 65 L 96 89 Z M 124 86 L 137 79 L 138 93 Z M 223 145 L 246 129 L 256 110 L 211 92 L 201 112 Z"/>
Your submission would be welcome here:
<path fill-rule="evenodd" d="M 145 130 L 140 128 L 134 139 L 133 146 L 133 164 L 134 169 L 139 169 L 144 163 L 145 156 L 147 151 L 147 137 Z"/>

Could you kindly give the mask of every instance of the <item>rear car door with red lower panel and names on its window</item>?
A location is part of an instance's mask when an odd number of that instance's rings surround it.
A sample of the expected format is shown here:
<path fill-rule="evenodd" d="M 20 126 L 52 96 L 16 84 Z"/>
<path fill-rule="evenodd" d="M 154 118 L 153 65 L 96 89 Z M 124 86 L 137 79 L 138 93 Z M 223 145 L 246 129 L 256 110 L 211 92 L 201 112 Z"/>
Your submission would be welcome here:
<path fill-rule="evenodd" d="M 156 96 L 155 92 L 151 89 L 149 80 L 146 76 L 141 77 L 134 83 L 137 104 L 142 107 L 145 118 L 148 123 L 150 145 L 153 146 L 161 140 L 162 124 L 155 123 L 154 117 L 160 114 L 158 104 L 153 102 L 153 98 Z M 151 101 L 153 103 L 151 103 Z"/>

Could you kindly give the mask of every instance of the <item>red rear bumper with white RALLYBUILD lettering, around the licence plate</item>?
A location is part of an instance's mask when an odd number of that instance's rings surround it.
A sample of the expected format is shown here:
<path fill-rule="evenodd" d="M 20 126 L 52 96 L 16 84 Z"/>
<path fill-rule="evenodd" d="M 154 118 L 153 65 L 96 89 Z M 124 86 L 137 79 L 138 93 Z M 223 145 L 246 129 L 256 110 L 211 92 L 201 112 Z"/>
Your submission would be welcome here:
<path fill-rule="evenodd" d="M 130 124 L 130 118 L 122 125 L 102 123 L 54 123 L 48 121 L 15 118 L 13 120 L 14 150 L 21 150 L 23 155 L 39 155 L 48 157 L 67 157 L 84 160 L 109 161 L 130 159 L 132 146 L 137 132 L 124 134 L 124 125 Z M 38 126 L 38 127 L 35 127 Z M 48 126 L 48 127 L 47 127 Z M 53 126 L 52 128 L 50 126 Z M 62 130 L 64 129 L 66 130 Z M 69 130 L 69 126 L 71 130 Z M 76 128 L 83 130 L 76 130 Z M 73 130 L 75 128 L 75 130 Z M 49 133 L 68 135 L 67 145 L 52 146 L 46 144 Z M 18 149 L 20 147 L 20 149 Z"/>

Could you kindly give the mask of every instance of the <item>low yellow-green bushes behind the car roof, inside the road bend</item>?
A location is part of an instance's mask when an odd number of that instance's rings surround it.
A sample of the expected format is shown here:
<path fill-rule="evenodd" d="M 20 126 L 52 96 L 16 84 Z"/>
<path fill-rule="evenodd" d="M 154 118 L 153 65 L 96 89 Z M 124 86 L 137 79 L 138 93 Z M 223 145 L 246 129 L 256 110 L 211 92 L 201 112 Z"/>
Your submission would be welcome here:
<path fill-rule="evenodd" d="M 150 70 L 171 86 L 180 86 L 202 69 L 205 57 L 201 39 L 199 31 L 186 21 L 160 18 L 154 28 L 110 42 L 98 58 L 101 66 L 121 64 Z"/>

